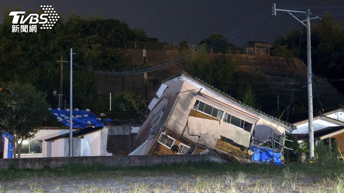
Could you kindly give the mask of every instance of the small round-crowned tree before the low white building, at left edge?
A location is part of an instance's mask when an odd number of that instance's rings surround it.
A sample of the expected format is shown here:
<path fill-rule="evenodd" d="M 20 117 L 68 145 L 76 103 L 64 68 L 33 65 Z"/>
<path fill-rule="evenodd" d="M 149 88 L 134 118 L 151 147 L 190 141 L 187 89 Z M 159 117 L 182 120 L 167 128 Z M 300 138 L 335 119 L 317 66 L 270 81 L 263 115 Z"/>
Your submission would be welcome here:
<path fill-rule="evenodd" d="M 13 157 L 20 158 L 24 139 L 31 139 L 50 117 L 46 94 L 32 84 L 18 82 L 0 83 L 0 130 L 13 135 Z M 8 137 L 7 137 L 8 138 Z M 9 138 L 8 138 L 9 139 Z"/>

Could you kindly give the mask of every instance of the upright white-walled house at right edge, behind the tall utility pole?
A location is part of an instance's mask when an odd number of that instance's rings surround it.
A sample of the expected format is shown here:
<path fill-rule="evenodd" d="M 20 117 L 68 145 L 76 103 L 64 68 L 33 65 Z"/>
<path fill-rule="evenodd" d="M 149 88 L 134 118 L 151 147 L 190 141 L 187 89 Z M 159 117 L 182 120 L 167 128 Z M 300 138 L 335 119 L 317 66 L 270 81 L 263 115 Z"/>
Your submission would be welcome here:
<path fill-rule="evenodd" d="M 299 143 L 309 143 L 308 119 L 293 124 L 297 127 L 292 135 Z M 329 112 L 319 112 L 313 118 L 314 146 L 320 143 L 330 146 L 333 150 L 337 144 L 340 151 L 344 150 L 344 106 Z"/>

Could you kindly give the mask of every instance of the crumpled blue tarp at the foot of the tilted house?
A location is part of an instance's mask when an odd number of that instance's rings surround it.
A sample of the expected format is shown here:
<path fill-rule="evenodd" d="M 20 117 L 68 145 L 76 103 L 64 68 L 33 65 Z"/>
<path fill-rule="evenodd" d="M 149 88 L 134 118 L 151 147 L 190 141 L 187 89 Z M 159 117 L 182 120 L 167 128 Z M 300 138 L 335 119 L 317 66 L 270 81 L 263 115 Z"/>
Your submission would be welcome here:
<path fill-rule="evenodd" d="M 257 148 L 255 146 L 251 146 L 251 149 L 254 150 L 254 154 L 251 156 L 252 162 L 259 162 L 259 163 L 266 163 L 269 164 L 270 161 L 273 159 L 275 165 L 282 165 L 282 161 L 280 159 L 281 153 L 275 153 L 272 149 L 267 147 L 260 147 Z M 272 158 L 273 155 L 273 158 Z"/>

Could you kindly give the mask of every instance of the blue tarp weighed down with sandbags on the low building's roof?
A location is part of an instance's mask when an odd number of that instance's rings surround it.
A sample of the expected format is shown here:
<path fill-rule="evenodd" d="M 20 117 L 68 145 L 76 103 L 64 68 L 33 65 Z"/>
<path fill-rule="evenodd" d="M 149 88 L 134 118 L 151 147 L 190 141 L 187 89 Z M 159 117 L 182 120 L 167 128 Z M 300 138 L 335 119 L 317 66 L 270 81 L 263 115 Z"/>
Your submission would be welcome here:
<path fill-rule="evenodd" d="M 52 111 L 53 116 L 57 118 L 57 121 L 62 122 L 66 126 L 69 126 L 69 109 L 49 109 Z M 86 110 L 73 110 L 73 128 L 86 128 L 86 125 L 94 125 L 97 127 L 104 127 L 104 123 L 100 121 L 94 113 Z"/>

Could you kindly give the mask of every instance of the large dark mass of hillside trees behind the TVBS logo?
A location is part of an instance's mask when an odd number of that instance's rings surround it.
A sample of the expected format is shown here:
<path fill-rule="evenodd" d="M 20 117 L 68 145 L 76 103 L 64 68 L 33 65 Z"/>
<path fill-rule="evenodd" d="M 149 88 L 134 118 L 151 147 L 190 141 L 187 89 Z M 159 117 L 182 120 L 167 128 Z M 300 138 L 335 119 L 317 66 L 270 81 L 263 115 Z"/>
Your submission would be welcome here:
<path fill-rule="evenodd" d="M 19 10 L 19 8 L 16 8 Z M 95 69 L 121 70 L 131 68 L 115 48 L 124 47 L 127 41 L 146 38 L 142 29 L 135 32 L 124 21 L 88 19 L 70 14 L 60 18 L 51 30 L 37 33 L 12 33 L 10 9 L 4 9 L 5 18 L 0 24 L 0 82 L 32 83 L 47 92 L 52 107 L 57 100 L 51 94 L 60 88 L 60 66 L 56 60 L 68 60 L 70 48 L 75 55 L 73 63 Z M 39 27 L 39 26 L 37 26 Z M 137 35 L 137 37 L 136 37 Z M 69 64 L 64 64 L 63 94 L 69 98 Z M 93 108 L 97 100 L 95 74 L 73 69 L 73 102 L 78 108 Z M 67 101 L 68 105 L 68 101 Z"/>

